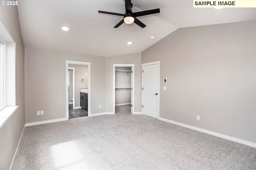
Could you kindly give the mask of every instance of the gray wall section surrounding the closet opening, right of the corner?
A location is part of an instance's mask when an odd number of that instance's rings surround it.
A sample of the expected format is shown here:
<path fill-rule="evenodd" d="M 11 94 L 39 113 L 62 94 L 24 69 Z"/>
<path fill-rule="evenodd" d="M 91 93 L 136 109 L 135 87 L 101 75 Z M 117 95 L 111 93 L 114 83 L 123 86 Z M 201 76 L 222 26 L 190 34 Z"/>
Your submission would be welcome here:
<path fill-rule="evenodd" d="M 106 57 L 106 111 L 113 112 L 113 64 L 134 64 L 134 111 L 141 112 L 141 53 Z"/>

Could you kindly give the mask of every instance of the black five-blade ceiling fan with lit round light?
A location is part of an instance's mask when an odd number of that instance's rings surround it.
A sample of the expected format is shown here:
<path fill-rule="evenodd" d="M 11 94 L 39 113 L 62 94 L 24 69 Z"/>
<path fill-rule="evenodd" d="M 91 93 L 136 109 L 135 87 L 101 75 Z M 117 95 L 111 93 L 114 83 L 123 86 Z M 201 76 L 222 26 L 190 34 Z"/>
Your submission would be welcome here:
<path fill-rule="evenodd" d="M 118 14 L 118 13 L 114 13 L 114 12 L 105 12 L 105 11 L 98 11 L 98 12 L 103 13 L 103 14 L 123 16 L 124 19 L 121 20 L 118 24 L 116 24 L 116 26 L 114 26 L 114 28 L 119 27 L 122 23 L 128 23 L 128 24 L 136 23 L 140 27 L 144 28 L 144 27 L 146 27 L 146 25 L 144 23 L 142 23 L 140 20 L 138 20 L 136 17 L 160 13 L 159 8 L 154 9 L 154 10 L 146 10 L 146 11 L 133 13 L 131 0 L 124 0 L 124 3 L 125 3 L 125 14 Z"/>

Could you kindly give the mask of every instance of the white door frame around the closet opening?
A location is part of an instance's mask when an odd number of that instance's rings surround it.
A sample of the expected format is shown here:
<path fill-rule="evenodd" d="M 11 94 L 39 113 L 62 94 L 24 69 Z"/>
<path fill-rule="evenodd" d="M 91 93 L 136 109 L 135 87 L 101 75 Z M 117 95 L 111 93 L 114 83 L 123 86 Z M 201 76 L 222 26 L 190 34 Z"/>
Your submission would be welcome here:
<path fill-rule="evenodd" d="M 113 64 L 113 113 L 116 114 L 116 67 L 132 67 L 132 114 L 134 114 L 134 64 Z"/>

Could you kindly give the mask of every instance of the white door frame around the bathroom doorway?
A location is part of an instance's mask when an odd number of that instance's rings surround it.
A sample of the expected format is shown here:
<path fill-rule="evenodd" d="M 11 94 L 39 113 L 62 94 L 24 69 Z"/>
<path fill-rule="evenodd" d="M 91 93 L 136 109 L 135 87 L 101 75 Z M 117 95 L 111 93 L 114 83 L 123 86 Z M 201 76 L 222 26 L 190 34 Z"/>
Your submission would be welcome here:
<path fill-rule="evenodd" d="M 91 116 L 91 63 L 88 62 L 82 62 L 82 61 L 69 61 L 66 60 L 66 118 L 69 119 L 68 114 L 68 64 L 74 64 L 74 65 L 86 65 L 88 66 L 88 117 Z M 74 78 L 73 78 L 74 80 Z M 74 92 L 73 92 L 74 94 Z M 73 96 L 73 101 L 74 99 Z M 73 105 L 74 106 L 74 105 Z"/>

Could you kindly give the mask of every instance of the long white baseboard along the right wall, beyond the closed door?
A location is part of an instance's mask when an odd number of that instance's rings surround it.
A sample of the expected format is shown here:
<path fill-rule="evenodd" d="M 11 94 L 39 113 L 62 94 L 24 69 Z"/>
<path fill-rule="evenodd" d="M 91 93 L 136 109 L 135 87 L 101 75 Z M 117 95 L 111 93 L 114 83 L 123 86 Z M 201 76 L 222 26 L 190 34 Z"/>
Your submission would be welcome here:
<path fill-rule="evenodd" d="M 220 133 L 216 133 L 216 132 L 213 132 L 213 131 L 208 131 L 208 130 L 206 130 L 206 129 L 201 129 L 201 128 L 199 128 L 199 127 L 194 127 L 194 126 L 186 125 L 186 124 L 184 124 L 184 123 L 172 121 L 172 120 L 169 120 L 169 119 L 164 119 L 164 118 L 162 118 L 162 117 L 159 117 L 158 119 L 159 119 L 159 120 L 162 120 L 162 121 L 169 122 L 169 123 L 173 123 L 173 124 L 175 124 L 175 125 L 187 127 L 187 128 L 189 128 L 189 129 L 193 129 L 193 130 L 196 130 L 196 131 L 200 131 L 200 132 L 203 132 L 203 133 L 207 133 L 207 134 L 210 134 L 210 135 L 214 135 L 214 136 L 216 136 L 216 137 L 221 137 L 221 138 L 223 138 L 223 139 L 228 139 L 228 140 L 230 140 L 230 141 L 234 141 L 234 142 L 237 142 L 237 143 L 242 143 L 242 144 L 244 144 L 244 145 L 248 145 L 248 146 L 250 146 L 250 147 L 256 148 L 256 143 L 252 143 L 252 142 L 245 141 L 245 140 L 242 140 L 242 139 L 238 139 L 238 138 L 235 138 L 235 137 L 230 137 L 230 136 L 223 135 L 223 134 L 220 134 Z"/>

